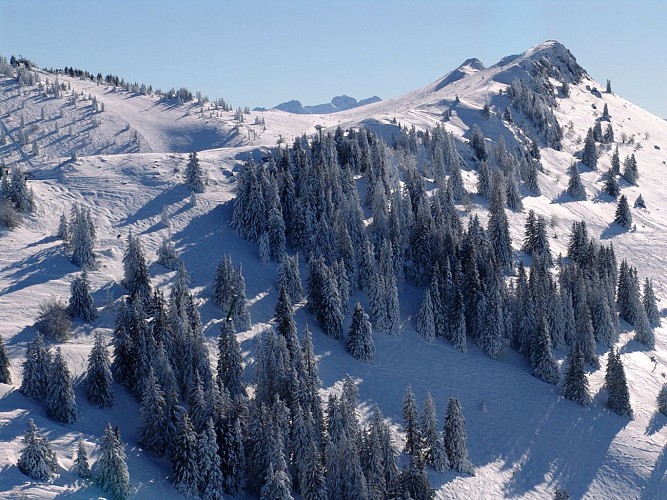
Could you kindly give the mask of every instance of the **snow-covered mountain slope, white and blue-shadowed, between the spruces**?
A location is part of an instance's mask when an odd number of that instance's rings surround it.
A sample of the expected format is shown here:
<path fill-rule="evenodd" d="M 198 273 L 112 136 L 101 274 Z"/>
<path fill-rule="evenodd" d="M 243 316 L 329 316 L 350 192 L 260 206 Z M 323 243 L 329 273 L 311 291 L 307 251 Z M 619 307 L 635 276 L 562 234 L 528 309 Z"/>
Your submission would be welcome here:
<path fill-rule="evenodd" d="M 174 272 L 154 263 L 162 238 L 171 234 L 189 273 L 209 351 L 217 352 L 223 314 L 212 302 L 211 282 L 224 254 L 241 263 L 247 286 L 252 330 L 239 334 L 252 382 L 260 333 L 274 315 L 277 300 L 277 265 L 262 264 L 257 245 L 240 238 L 231 227 L 239 165 L 249 157 L 261 161 L 269 147 L 290 144 L 295 137 L 314 135 L 317 128 L 367 126 L 388 143 L 399 126 L 426 130 L 444 125 L 457 138 L 457 148 L 469 168 L 463 171 L 466 187 L 475 192 L 477 171 L 468 146 L 473 125 L 487 138 L 490 149 L 502 136 L 514 150 L 526 144 L 536 130 L 523 118 L 503 119 L 510 106 L 507 88 L 515 78 L 530 78 L 535 68 L 548 68 L 547 79 L 559 89 L 569 83 L 569 96 L 556 92 L 553 113 L 563 132 L 560 151 L 543 147 L 539 173 L 540 196 L 525 196 L 520 212 L 507 211 L 517 258 L 528 210 L 549 221 L 548 235 L 554 256 L 567 252 L 572 222 L 584 220 L 589 233 L 612 242 L 619 259 L 636 266 L 641 279 L 652 278 L 659 307 L 667 307 L 667 122 L 638 108 L 590 79 L 573 56 L 557 42 L 545 42 L 519 56 L 504 58 L 490 67 L 467 60 L 442 79 L 405 96 L 341 111 L 333 115 L 297 115 L 277 110 L 252 111 L 244 122 L 234 112 L 208 105 L 169 105 L 155 97 L 114 92 L 94 82 L 59 76 L 71 87 L 64 97 L 44 97 L 39 87 L 22 87 L 5 78 L 0 90 L 0 122 L 6 143 L 0 147 L 7 167 L 20 165 L 29 172 L 36 209 L 17 229 L 0 229 L 0 332 L 11 360 L 12 385 L 0 384 L 0 496 L 4 498 L 91 498 L 103 495 L 92 482 L 68 472 L 82 437 L 91 462 L 97 458 L 107 421 L 120 428 L 127 443 L 128 465 L 136 498 L 180 498 L 170 484 L 166 459 L 154 460 L 137 444 L 139 405 L 120 386 L 113 409 L 90 405 L 81 385 L 76 388 L 79 420 L 61 425 L 46 417 L 42 405 L 24 397 L 18 387 L 21 363 L 36 328 L 40 304 L 51 296 L 67 299 L 69 284 L 80 269 L 72 264 L 62 242 L 55 238 L 59 218 L 74 202 L 90 208 L 97 231 L 99 267 L 90 272 L 91 288 L 100 318 L 92 325 L 74 322 L 72 338 L 61 343 L 63 355 L 76 377 L 83 375 L 93 334 L 111 339 L 114 303 L 127 293 L 122 257 L 127 235 L 139 235 L 156 287 L 171 285 Z M 42 82 L 55 81 L 40 72 Z M 595 90 L 598 89 L 598 90 Z M 501 92 L 502 91 L 502 92 Z M 72 93 L 82 93 L 74 102 Z M 88 96 L 91 99 L 88 99 Z M 92 97 L 104 103 L 95 111 Z M 489 104 L 489 116 L 483 114 Z M 587 199 L 575 201 L 563 192 L 568 167 L 583 148 L 586 132 L 608 107 L 615 141 L 601 145 L 598 170 L 581 168 Z M 99 106 L 99 104 L 98 104 Z M 44 110 L 42 117 L 42 110 Z M 518 115 L 518 113 L 517 113 Z M 444 121 L 443 117 L 447 117 Z M 23 126 L 21 121 L 24 121 Z M 56 123 L 58 129 L 56 130 Z M 317 127 L 317 128 L 316 128 Z M 29 140 L 20 145 L 19 132 Z M 37 141 L 37 151 L 32 143 Z M 621 181 L 622 193 L 632 202 L 640 194 L 646 208 L 633 208 L 635 228 L 620 231 L 612 224 L 616 203 L 601 192 L 603 174 L 611 165 L 614 147 L 621 160 L 634 154 L 639 165 L 637 185 Z M 186 152 L 199 151 L 209 183 L 191 200 L 184 185 Z M 77 153 L 79 158 L 71 157 Z M 526 193 L 524 193 L 526 194 Z M 479 214 L 486 224 L 487 204 L 479 197 L 458 205 L 461 214 Z M 170 227 L 163 223 L 163 212 Z M 302 277 L 305 281 L 305 266 Z M 399 290 L 401 334 L 376 334 L 375 363 L 354 360 L 341 342 L 326 337 L 305 305 L 297 309 L 300 336 L 306 325 L 314 333 L 323 392 L 340 392 L 346 374 L 358 384 L 362 419 L 378 405 L 397 440 L 402 439 L 401 401 L 411 384 L 417 400 L 433 394 L 441 422 L 450 396 L 459 398 L 466 417 L 468 450 L 476 467 L 469 477 L 452 471 L 429 470 L 438 498 L 526 498 L 553 495 L 567 488 L 573 498 L 660 499 L 667 495 L 667 416 L 657 412 L 655 399 L 667 381 L 667 327 L 655 329 L 656 347 L 633 340 L 631 327 L 622 322 L 617 344 L 625 366 L 634 418 L 621 417 L 605 406 L 603 389 L 606 350 L 598 348 L 602 367 L 590 374 L 594 395 L 589 407 L 559 395 L 560 387 L 546 384 L 530 373 L 514 350 L 494 360 L 472 342 L 463 354 L 444 340 L 427 342 L 414 328 L 423 291 L 412 285 Z M 359 293 L 367 303 L 365 294 Z M 355 297 L 356 298 L 356 297 Z M 349 318 L 346 320 L 349 326 Z M 55 349 L 55 344 L 51 344 Z M 567 355 L 554 351 L 559 364 Z M 45 430 L 59 460 L 58 476 L 47 483 L 30 480 L 16 467 L 21 433 L 29 418 Z M 402 448 L 402 446 L 401 446 Z M 401 463 L 406 463 L 405 456 Z"/>

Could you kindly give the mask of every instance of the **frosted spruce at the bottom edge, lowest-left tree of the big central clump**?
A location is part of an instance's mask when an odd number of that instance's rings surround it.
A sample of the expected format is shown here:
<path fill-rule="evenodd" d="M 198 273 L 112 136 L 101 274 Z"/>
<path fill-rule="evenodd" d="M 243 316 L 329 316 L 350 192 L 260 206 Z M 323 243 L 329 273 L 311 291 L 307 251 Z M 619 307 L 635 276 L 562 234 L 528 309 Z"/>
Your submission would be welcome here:
<path fill-rule="evenodd" d="M 197 496 L 200 485 L 200 470 L 197 463 L 197 434 L 187 413 L 183 413 L 179 422 L 178 434 L 171 456 L 171 465 L 174 469 L 172 480 L 176 491 L 184 497 Z"/>

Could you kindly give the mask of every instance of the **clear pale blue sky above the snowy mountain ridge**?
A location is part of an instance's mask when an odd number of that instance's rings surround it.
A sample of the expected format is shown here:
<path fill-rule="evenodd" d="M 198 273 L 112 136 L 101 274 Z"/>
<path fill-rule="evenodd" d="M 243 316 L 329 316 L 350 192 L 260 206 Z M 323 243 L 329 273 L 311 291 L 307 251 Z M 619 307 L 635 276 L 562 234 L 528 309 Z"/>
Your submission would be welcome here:
<path fill-rule="evenodd" d="M 548 39 L 667 118 L 664 0 L 0 0 L 2 55 L 234 106 L 387 99 Z"/>

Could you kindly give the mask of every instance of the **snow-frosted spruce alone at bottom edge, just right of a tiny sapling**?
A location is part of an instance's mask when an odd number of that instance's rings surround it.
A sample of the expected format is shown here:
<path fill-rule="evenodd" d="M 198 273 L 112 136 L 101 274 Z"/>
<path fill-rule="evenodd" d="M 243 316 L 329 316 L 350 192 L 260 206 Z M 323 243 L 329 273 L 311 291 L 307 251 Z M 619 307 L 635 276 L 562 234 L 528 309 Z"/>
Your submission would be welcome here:
<path fill-rule="evenodd" d="M 125 446 L 116 431 L 107 424 L 104 429 L 100 456 L 95 462 L 95 479 L 100 488 L 118 500 L 130 496 L 130 473 L 125 462 Z"/>

